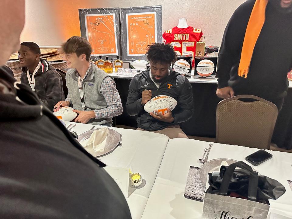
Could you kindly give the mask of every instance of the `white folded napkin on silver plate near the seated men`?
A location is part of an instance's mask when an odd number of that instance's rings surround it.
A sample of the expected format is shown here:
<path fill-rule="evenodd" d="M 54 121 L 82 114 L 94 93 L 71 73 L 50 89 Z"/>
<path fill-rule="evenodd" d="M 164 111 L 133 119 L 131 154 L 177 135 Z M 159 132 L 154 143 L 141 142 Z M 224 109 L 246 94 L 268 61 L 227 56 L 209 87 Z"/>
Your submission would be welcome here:
<path fill-rule="evenodd" d="M 99 130 L 94 130 L 90 137 L 80 144 L 89 153 L 95 153 L 96 151 L 104 151 L 106 146 L 107 133 L 109 132 L 107 127 L 101 128 Z"/>

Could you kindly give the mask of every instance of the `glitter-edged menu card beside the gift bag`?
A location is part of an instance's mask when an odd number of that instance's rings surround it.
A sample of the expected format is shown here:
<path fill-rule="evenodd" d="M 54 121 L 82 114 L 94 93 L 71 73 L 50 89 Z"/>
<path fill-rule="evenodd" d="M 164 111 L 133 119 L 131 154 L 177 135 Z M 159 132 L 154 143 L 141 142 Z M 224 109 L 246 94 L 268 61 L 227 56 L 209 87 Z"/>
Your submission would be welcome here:
<path fill-rule="evenodd" d="M 189 166 L 189 175 L 186 181 L 186 189 L 184 196 L 203 202 L 204 189 L 199 182 L 199 167 Z"/>

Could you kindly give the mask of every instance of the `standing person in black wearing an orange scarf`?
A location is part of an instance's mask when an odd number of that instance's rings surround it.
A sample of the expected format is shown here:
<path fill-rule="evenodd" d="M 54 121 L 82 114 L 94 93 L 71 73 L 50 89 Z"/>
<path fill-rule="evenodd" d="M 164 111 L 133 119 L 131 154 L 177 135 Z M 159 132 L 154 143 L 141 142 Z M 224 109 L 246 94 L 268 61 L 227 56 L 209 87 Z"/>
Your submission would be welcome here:
<path fill-rule="evenodd" d="M 292 0 L 248 0 L 229 20 L 218 56 L 217 96 L 250 94 L 280 110 L 292 68 Z"/>

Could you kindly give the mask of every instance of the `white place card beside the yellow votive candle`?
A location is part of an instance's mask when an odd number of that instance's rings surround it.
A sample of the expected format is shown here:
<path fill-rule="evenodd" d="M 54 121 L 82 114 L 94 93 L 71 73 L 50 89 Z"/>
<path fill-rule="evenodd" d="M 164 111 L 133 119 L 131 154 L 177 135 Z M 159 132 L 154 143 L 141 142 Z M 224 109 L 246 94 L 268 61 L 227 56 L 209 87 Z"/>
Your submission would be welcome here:
<path fill-rule="evenodd" d="M 115 180 L 127 198 L 129 196 L 129 168 L 106 166 L 103 169 Z"/>

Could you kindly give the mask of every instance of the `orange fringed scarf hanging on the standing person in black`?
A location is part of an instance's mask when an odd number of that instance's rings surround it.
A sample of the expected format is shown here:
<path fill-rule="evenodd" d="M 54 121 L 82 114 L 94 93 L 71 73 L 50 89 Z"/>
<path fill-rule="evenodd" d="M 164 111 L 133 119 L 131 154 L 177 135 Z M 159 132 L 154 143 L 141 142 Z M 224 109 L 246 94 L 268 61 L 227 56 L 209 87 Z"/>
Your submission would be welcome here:
<path fill-rule="evenodd" d="M 255 43 L 258 40 L 261 33 L 262 26 L 265 23 L 265 13 L 268 0 L 256 0 L 253 6 L 252 13 L 249 17 L 249 23 L 247 24 L 245 36 L 242 45 L 240 63 L 238 67 L 238 75 L 247 77 L 249 73 L 249 64 L 252 60 L 253 50 Z"/>

